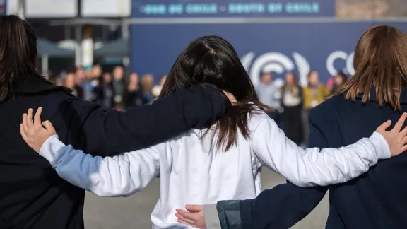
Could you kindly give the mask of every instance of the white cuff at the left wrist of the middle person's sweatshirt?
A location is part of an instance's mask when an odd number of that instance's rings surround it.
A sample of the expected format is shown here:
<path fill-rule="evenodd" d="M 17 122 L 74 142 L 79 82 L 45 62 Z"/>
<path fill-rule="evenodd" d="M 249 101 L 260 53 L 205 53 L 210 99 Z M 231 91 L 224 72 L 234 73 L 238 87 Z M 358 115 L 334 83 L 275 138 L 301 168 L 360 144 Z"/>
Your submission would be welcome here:
<path fill-rule="evenodd" d="M 54 163 L 64 154 L 64 152 L 61 151 L 61 148 L 64 146 L 65 144 L 62 141 L 59 141 L 58 135 L 54 134 L 42 144 L 40 155 L 47 159 L 52 167 L 54 167 Z"/>

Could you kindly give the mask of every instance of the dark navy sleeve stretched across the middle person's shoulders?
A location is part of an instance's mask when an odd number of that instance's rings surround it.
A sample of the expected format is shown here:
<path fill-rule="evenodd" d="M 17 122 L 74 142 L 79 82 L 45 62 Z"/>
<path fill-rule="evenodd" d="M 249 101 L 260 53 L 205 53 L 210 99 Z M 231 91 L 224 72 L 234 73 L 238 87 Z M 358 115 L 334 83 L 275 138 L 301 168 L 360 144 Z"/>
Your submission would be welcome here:
<path fill-rule="evenodd" d="M 206 127 L 229 107 L 229 100 L 218 88 L 191 86 L 126 112 L 105 111 L 94 102 L 69 98 L 59 103 L 55 119 L 61 120 L 51 121 L 69 130 L 64 139 L 74 147 L 92 155 L 111 156 Z"/>

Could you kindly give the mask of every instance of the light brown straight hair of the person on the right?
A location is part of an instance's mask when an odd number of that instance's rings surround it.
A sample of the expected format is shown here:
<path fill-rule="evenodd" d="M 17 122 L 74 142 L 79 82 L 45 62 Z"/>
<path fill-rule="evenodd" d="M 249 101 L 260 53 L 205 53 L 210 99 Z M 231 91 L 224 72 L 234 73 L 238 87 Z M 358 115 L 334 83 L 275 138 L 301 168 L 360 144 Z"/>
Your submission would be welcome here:
<path fill-rule="evenodd" d="M 379 106 L 388 103 L 400 110 L 401 88 L 407 82 L 407 36 L 389 25 L 369 28 L 355 47 L 355 75 L 334 95 L 345 94 L 355 100 L 362 93 L 362 102 L 370 98 L 370 88 L 376 88 Z"/>

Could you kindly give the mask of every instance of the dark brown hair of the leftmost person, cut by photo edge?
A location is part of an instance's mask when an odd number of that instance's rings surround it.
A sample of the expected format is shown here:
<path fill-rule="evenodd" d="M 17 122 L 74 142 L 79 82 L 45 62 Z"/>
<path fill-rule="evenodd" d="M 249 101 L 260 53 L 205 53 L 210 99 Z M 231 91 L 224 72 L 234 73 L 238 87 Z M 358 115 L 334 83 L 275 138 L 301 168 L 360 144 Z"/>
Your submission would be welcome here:
<path fill-rule="evenodd" d="M 35 69 L 37 36 L 33 28 L 18 16 L 0 16 L 0 34 L 0 101 L 2 101 L 13 93 L 16 84 L 25 77 L 43 77 Z"/>

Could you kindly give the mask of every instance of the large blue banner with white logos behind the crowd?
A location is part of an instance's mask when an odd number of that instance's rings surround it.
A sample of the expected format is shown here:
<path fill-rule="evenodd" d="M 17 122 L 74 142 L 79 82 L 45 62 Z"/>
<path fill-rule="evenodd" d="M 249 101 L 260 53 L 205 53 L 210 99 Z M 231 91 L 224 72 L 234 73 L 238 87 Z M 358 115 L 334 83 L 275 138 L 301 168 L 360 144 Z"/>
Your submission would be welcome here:
<path fill-rule="evenodd" d="M 131 71 L 167 74 L 184 47 L 196 37 L 220 35 L 239 54 L 254 83 L 262 71 L 282 78 L 295 71 L 304 85 L 316 70 L 322 81 L 338 70 L 354 74 L 353 50 L 360 35 L 377 23 L 284 23 L 240 25 L 133 25 Z M 386 23 L 407 32 L 407 23 Z"/>

